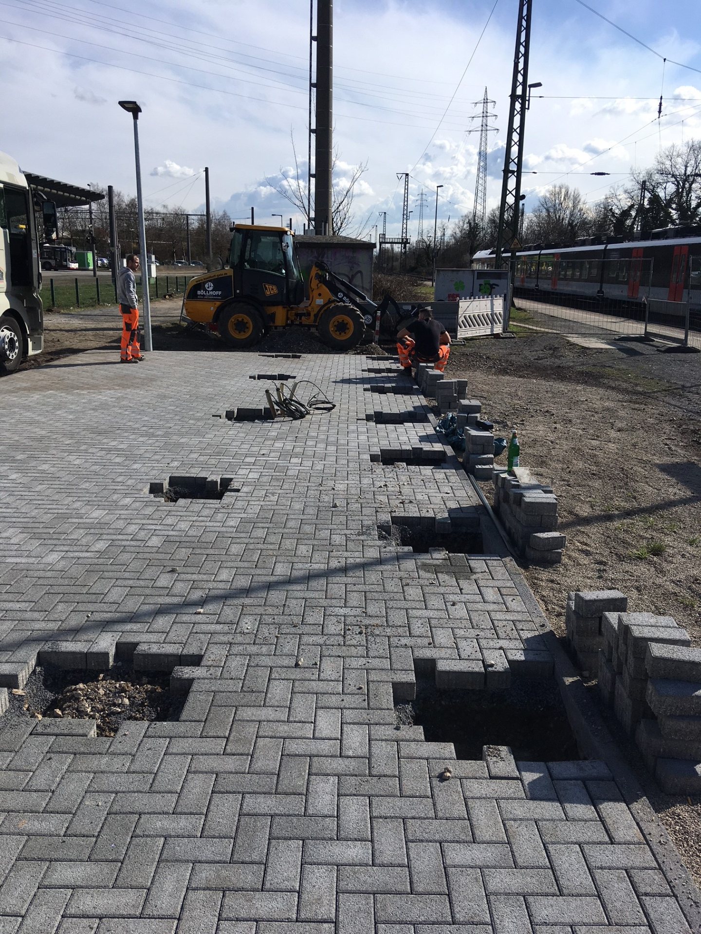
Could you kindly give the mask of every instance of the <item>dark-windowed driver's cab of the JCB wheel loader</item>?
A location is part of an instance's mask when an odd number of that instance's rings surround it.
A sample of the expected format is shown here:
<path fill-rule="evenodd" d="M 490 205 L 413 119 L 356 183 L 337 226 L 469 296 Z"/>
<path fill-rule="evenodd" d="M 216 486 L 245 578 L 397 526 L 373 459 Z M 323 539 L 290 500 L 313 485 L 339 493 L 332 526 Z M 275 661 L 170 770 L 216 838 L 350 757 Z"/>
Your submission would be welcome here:
<path fill-rule="evenodd" d="M 250 296 L 265 306 L 297 305 L 305 300 L 293 233 L 287 228 L 236 224 L 229 265 L 235 296 Z"/>

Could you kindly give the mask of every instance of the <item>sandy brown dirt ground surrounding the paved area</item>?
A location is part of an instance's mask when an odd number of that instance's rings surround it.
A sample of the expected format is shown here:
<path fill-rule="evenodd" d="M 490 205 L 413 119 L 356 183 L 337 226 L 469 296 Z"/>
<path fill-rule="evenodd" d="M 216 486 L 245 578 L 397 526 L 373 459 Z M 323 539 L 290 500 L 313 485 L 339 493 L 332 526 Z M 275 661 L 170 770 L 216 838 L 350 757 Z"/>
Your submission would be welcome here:
<path fill-rule="evenodd" d="M 152 304 L 154 349 L 229 352 L 180 326 L 179 310 L 179 299 Z M 116 308 L 48 314 L 45 352 L 23 367 L 93 347 L 114 347 L 116 362 L 120 331 Z M 631 339 L 594 349 L 518 334 L 453 347 L 447 375 L 469 380 L 497 434 L 518 428 L 522 465 L 558 496 L 563 562 L 523 567 L 553 630 L 564 634 L 567 591 L 617 587 L 631 610 L 675 616 L 701 645 L 701 355 Z M 254 349 L 328 352 L 300 329 Z M 491 485 L 483 489 L 491 499 Z M 636 747 L 609 726 L 701 884 L 701 803 L 663 795 Z"/>

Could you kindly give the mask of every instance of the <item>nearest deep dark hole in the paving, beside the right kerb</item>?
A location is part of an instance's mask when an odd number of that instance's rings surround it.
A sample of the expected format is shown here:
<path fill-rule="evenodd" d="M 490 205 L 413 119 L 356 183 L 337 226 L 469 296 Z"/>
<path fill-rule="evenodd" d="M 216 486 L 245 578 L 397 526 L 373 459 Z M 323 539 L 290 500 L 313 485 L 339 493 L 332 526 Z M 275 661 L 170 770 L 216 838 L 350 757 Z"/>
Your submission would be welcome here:
<path fill-rule="evenodd" d="M 453 743 L 455 755 L 481 759 L 482 746 L 510 746 L 517 762 L 581 758 L 565 705 L 551 679 L 520 679 L 506 691 L 439 691 L 417 678 L 416 699 L 394 705 L 397 725 L 423 728 L 428 743 Z"/>

